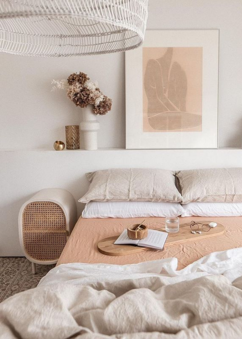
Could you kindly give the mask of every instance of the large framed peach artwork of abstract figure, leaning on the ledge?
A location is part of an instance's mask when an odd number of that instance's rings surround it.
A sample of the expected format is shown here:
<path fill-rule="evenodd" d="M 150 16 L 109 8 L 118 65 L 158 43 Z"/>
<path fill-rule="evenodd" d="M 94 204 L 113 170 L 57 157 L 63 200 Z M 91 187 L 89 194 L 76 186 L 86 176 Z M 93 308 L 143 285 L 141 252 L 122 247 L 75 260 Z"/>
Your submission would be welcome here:
<path fill-rule="evenodd" d="M 126 149 L 218 147 L 219 31 L 146 31 L 125 53 Z"/>

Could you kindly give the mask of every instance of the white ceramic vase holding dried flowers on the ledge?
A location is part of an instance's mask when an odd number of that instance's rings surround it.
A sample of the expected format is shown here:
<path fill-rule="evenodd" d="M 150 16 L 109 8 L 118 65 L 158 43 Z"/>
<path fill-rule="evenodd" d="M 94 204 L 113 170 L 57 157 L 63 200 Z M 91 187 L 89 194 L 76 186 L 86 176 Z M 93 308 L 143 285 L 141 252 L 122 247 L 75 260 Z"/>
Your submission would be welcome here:
<path fill-rule="evenodd" d="M 89 151 L 97 150 L 97 131 L 100 128 L 92 109 L 93 105 L 82 108 L 82 122 L 80 123 L 80 130 L 84 137 L 84 149 Z"/>

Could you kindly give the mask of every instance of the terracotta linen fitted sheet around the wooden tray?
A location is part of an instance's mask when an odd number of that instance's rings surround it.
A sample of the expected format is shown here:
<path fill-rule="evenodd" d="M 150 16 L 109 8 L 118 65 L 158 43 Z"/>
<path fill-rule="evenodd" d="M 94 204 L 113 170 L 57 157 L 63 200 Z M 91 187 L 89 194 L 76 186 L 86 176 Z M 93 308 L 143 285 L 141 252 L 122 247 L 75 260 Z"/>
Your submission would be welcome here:
<path fill-rule="evenodd" d="M 141 223 L 143 220 L 144 218 L 84 219 L 80 217 L 61 253 L 57 265 L 71 262 L 125 265 L 175 257 L 178 259 L 178 269 L 181 269 L 212 252 L 242 247 L 242 216 L 190 216 L 180 218 L 180 224 L 190 222 L 191 220 L 210 220 L 224 225 L 226 231 L 223 235 L 183 245 L 165 245 L 164 250 L 151 249 L 121 257 L 107 256 L 98 251 L 97 244 L 99 241 L 107 237 L 119 235 L 127 226 Z M 165 225 L 165 218 L 148 217 L 146 218 L 145 225 L 154 230 L 162 228 Z"/>

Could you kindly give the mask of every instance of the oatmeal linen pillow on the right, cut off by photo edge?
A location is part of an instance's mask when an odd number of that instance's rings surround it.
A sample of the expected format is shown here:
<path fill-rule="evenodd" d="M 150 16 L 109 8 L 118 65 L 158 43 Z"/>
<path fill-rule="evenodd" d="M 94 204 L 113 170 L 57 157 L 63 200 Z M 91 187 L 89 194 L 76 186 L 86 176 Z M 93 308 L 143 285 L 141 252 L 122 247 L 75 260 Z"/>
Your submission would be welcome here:
<path fill-rule="evenodd" d="M 182 203 L 242 202 L 242 168 L 177 172 Z"/>

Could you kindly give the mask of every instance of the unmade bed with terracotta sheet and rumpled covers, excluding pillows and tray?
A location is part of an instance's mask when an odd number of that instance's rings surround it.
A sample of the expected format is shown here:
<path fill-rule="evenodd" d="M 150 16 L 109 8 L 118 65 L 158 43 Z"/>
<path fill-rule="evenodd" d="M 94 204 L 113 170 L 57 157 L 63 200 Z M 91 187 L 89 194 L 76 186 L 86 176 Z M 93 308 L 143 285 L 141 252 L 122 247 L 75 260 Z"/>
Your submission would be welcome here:
<path fill-rule="evenodd" d="M 241 339 L 242 217 L 203 219 L 226 232 L 110 257 L 98 241 L 142 218 L 79 218 L 38 287 L 0 304 L 0 339 Z"/>

